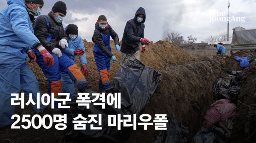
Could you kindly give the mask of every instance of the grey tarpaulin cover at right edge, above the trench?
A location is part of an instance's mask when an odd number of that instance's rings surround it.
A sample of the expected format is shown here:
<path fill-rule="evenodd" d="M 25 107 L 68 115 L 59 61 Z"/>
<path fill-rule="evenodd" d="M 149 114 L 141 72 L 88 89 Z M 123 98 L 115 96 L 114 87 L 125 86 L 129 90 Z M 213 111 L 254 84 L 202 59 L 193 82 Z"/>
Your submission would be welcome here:
<path fill-rule="evenodd" d="M 235 30 L 231 46 L 256 45 L 256 29 Z"/>

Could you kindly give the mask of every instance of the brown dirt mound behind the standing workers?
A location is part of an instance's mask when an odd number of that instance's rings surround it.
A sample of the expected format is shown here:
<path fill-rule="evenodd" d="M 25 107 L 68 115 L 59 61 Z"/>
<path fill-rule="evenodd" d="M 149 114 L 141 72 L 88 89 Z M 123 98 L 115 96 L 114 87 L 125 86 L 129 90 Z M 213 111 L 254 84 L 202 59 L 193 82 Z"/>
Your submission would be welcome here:
<path fill-rule="evenodd" d="M 89 70 L 89 75 L 85 77 L 89 83 L 93 84 L 93 90 L 102 92 L 102 90 L 98 89 L 99 72 L 93 57 L 94 44 L 93 42 L 87 42 L 85 39 L 83 42 L 86 49 L 87 67 Z M 119 62 L 121 61 L 122 57 L 121 52 L 116 50 L 114 41 L 111 40 L 110 45 L 112 48 L 112 53 L 117 59 L 117 61 L 111 61 L 110 79 L 112 79 L 119 68 Z M 141 50 L 142 47 L 140 45 L 140 51 Z M 146 46 L 145 53 L 140 52 L 140 61 L 146 66 L 151 66 L 157 71 L 166 66 L 174 66 L 176 64 L 186 63 L 192 60 L 196 59 L 192 58 L 192 56 L 180 49 L 177 45 L 167 41 L 158 41 L 157 43 L 151 42 L 149 46 Z M 76 63 L 80 67 L 78 57 L 76 57 Z"/>

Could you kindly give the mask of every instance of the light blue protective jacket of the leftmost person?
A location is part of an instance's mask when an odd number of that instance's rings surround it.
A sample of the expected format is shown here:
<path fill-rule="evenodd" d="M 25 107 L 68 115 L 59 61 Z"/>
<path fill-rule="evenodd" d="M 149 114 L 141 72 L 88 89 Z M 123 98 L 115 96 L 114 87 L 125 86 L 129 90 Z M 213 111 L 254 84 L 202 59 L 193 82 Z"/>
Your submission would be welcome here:
<path fill-rule="evenodd" d="M 26 51 L 40 46 L 23 0 L 6 0 L 8 6 L 0 11 L 0 64 L 21 65 Z"/>

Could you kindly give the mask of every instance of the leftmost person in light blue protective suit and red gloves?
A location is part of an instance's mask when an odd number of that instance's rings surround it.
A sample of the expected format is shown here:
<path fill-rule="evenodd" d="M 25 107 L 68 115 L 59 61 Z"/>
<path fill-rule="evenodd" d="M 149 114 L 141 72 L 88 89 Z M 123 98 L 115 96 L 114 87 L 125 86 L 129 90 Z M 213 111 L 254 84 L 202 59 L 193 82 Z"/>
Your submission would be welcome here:
<path fill-rule="evenodd" d="M 22 89 L 27 97 L 29 97 L 29 93 L 32 93 L 32 99 L 37 103 L 36 94 L 40 93 L 38 82 L 26 64 L 28 55 L 29 62 L 36 60 L 36 56 L 30 48 L 40 51 L 44 64 L 49 66 L 54 64 L 52 55 L 35 37 L 27 11 L 27 9 L 32 12 L 38 11 L 39 7 L 43 6 L 43 0 L 6 1 L 8 6 L 0 11 L 0 128 L 13 123 L 11 117 L 15 105 L 11 105 L 12 93 L 20 93 Z M 40 113 L 46 108 L 41 102 L 40 109 L 37 109 L 36 106 L 36 104 L 32 104 L 35 113 Z"/>

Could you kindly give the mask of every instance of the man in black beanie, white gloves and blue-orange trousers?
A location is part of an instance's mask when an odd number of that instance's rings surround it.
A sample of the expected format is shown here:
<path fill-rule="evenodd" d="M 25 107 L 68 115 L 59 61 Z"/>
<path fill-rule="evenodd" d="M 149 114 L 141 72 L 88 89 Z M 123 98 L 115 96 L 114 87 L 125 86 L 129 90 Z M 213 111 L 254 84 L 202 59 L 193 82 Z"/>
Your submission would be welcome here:
<path fill-rule="evenodd" d="M 58 1 L 48 15 L 39 16 L 35 20 L 35 36 L 54 58 L 53 66 L 43 64 L 43 57 L 34 49 L 36 62 L 48 79 L 48 92 L 58 96 L 61 92 L 60 71 L 67 73 L 81 93 L 87 92 L 92 85 L 88 84 L 80 69 L 61 49 L 68 47 L 68 37 L 64 32 L 62 21 L 67 13 L 66 4 Z M 57 97 L 58 98 L 58 97 Z M 56 107 L 56 106 L 55 106 Z"/>

